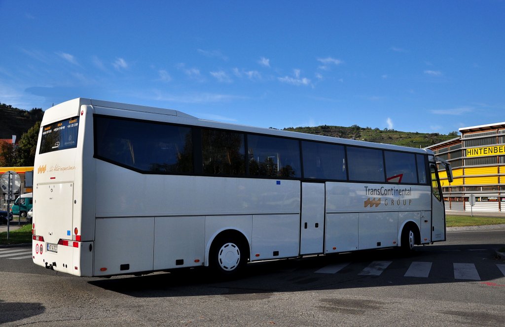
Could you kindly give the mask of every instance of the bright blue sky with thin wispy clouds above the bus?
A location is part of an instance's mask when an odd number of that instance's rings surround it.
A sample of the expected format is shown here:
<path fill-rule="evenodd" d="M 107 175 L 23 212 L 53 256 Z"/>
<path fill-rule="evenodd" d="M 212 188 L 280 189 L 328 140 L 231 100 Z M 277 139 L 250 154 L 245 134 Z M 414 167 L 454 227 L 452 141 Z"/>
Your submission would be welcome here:
<path fill-rule="evenodd" d="M 505 121 L 505 2 L 0 0 L 0 101 L 259 127 Z"/>

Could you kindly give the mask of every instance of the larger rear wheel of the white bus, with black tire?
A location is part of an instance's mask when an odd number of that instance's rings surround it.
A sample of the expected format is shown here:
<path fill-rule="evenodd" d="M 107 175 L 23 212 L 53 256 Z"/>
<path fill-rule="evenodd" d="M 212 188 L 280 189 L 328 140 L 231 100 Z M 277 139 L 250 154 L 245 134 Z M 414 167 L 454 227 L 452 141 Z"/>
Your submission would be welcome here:
<path fill-rule="evenodd" d="M 246 263 L 246 248 L 238 238 L 222 236 L 212 243 L 210 265 L 219 277 L 238 276 Z"/>

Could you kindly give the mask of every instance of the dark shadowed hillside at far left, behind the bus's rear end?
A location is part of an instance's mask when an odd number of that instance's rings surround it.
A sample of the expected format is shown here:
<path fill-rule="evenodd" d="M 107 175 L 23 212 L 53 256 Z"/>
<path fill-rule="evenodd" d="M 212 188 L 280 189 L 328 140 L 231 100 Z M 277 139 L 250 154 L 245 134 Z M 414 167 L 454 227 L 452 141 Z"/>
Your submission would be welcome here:
<path fill-rule="evenodd" d="M 0 103 L 0 139 L 10 139 L 16 135 L 19 140 L 23 133 L 42 120 L 43 115 L 44 112 L 40 108 L 28 111 Z"/>

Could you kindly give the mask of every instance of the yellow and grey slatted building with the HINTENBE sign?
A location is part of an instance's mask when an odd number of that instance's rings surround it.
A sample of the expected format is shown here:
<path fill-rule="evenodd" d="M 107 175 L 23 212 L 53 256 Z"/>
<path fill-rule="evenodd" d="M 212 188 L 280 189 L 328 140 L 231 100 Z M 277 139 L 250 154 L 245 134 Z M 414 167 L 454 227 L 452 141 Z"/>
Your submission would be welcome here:
<path fill-rule="evenodd" d="M 505 211 L 505 122 L 460 128 L 461 136 L 427 147 L 446 159 L 454 180 L 439 170 L 446 210 Z M 439 167 L 440 169 L 440 167 Z"/>

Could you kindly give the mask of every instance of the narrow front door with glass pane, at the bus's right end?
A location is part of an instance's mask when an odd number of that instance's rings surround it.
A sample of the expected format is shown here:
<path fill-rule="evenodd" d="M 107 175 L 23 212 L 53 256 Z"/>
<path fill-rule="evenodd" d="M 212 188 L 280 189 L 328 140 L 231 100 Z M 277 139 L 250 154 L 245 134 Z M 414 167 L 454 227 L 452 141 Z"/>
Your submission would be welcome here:
<path fill-rule="evenodd" d="M 430 165 L 431 175 L 431 241 L 445 241 L 445 208 L 436 166 Z"/>

